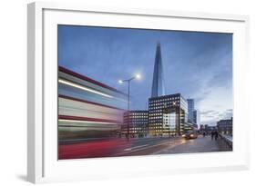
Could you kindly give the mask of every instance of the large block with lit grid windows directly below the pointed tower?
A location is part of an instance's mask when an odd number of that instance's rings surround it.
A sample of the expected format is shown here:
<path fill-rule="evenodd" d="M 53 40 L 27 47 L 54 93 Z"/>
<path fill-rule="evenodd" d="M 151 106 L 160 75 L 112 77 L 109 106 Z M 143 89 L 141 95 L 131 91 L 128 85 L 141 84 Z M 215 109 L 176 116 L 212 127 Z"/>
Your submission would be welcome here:
<path fill-rule="evenodd" d="M 182 134 L 188 122 L 188 103 L 180 93 L 148 99 L 149 134 Z"/>

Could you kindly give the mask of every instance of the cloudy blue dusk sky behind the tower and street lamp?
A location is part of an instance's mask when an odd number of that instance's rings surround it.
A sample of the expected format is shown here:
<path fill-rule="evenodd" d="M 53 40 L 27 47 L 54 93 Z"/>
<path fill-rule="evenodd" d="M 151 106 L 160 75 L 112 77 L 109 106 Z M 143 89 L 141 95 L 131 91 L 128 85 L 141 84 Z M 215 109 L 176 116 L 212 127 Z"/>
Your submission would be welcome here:
<path fill-rule="evenodd" d="M 148 109 L 157 44 L 161 44 L 166 94 L 195 99 L 200 121 L 232 116 L 232 34 L 58 25 L 58 64 L 124 93 L 131 109 Z"/>

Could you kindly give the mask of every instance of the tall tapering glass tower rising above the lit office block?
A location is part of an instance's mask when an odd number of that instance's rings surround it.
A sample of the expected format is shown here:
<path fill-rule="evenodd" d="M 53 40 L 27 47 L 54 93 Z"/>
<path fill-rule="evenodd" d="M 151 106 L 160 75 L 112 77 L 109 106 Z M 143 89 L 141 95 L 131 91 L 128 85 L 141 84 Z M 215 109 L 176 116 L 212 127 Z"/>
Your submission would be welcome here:
<path fill-rule="evenodd" d="M 161 46 L 158 43 L 154 65 L 153 83 L 151 97 L 165 95 L 164 74 L 161 58 Z"/>

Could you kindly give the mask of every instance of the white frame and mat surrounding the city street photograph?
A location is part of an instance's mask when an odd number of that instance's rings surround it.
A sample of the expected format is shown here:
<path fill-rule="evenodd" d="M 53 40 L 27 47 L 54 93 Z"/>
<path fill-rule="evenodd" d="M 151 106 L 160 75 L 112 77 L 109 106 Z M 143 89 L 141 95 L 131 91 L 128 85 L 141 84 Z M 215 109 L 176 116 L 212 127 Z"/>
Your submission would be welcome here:
<path fill-rule="evenodd" d="M 89 18 L 87 18 L 89 17 Z M 233 34 L 233 152 L 57 161 L 56 25 L 83 24 Z M 249 169 L 247 82 L 249 17 L 61 3 L 27 11 L 27 180 L 86 181 L 127 176 Z M 56 81 L 55 81 L 56 80 Z M 52 81 L 52 82 L 51 82 Z M 242 124 L 241 124 L 242 123 Z M 200 160 L 198 162 L 197 160 Z M 134 164 L 139 165 L 134 169 Z M 120 169 L 120 165 L 122 165 Z M 169 166 L 167 166 L 169 165 Z"/>

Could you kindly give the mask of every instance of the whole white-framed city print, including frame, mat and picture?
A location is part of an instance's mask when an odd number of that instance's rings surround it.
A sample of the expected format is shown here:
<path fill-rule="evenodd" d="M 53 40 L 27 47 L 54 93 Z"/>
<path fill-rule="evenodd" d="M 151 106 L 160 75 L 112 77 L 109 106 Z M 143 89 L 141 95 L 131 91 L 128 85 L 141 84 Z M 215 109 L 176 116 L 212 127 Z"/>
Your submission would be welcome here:
<path fill-rule="evenodd" d="M 248 20 L 28 5 L 28 181 L 247 169 Z"/>

